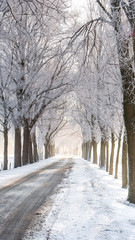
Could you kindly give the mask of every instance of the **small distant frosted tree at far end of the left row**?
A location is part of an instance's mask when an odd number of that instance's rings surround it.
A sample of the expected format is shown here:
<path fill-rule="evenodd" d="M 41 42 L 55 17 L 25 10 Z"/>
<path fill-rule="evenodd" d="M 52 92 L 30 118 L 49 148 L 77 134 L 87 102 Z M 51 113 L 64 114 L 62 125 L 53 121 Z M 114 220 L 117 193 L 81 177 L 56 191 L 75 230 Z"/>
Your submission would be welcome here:
<path fill-rule="evenodd" d="M 55 154 L 55 137 L 67 123 L 63 101 L 51 104 L 39 119 L 37 126 L 44 144 L 45 158 Z"/>

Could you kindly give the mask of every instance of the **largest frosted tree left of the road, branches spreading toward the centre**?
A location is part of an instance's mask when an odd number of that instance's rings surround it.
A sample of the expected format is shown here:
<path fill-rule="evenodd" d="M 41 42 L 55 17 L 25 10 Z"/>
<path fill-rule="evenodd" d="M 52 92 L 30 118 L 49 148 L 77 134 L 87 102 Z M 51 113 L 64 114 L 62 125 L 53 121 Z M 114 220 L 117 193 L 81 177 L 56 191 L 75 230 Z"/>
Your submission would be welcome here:
<path fill-rule="evenodd" d="M 72 63 L 62 41 L 64 12 L 64 1 L 15 0 L 3 7 L 3 32 L 12 50 L 15 166 L 21 165 L 21 128 L 22 163 L 26 164 L 31 129 L 69 85 L 67 74 Z"/>

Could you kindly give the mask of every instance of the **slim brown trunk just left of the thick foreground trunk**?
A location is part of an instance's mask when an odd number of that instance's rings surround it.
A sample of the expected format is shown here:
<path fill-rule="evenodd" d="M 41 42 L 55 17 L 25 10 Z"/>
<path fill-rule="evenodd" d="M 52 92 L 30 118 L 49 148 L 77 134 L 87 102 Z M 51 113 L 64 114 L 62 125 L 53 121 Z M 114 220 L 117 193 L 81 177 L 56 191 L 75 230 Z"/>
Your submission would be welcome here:
<path fill-rule="evenodd" d="M 127 154 L 127 139 L 126 134 L 123 137 L 123 148 L 122 148 L 122 188 L 126 188 L 128 184 L 127 179 L 127 162 L 128 162 L 128 154 Z"/>

